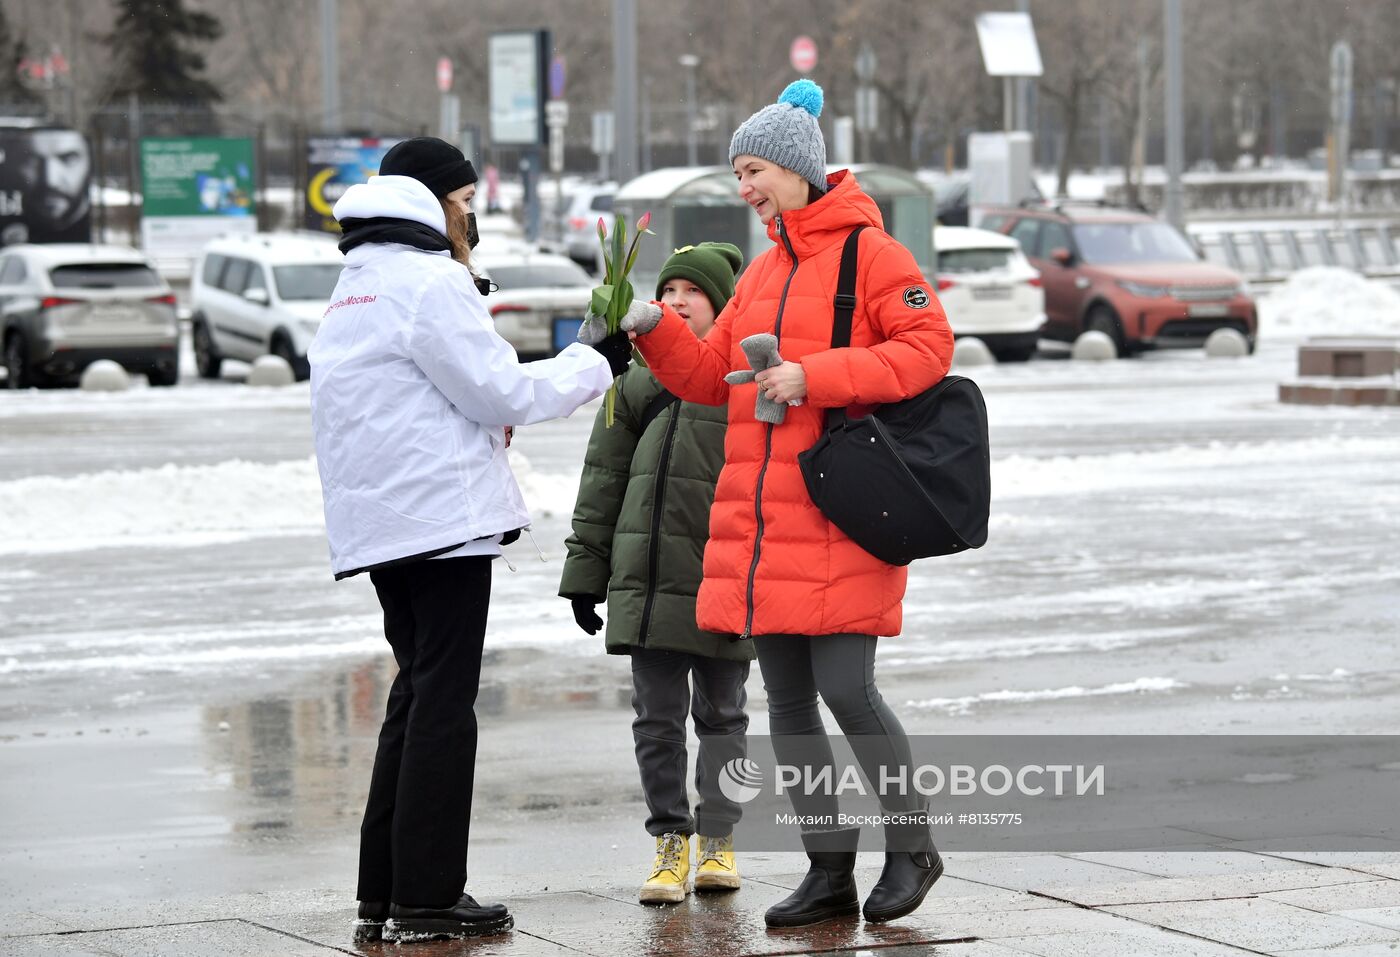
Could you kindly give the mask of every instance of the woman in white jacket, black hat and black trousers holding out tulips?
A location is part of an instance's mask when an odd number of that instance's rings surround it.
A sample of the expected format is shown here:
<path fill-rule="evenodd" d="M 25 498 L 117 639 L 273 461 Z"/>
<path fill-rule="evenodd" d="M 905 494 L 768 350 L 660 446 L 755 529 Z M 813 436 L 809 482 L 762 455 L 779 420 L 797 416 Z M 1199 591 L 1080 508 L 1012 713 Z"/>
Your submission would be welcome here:
<path fill-rule="evenodd" d="M 519 362 L 465 266 L 476 172 L 433 137 L 336 203 L 344 271 L 309 351 L 336 578 L 370 572 L 399 674 L 360 830 L 361 940 L 511 926 L 463 893 L 491 558 L 529 523 L 507 430 L 598 397 L 624 333 Z"/>

